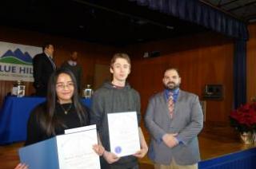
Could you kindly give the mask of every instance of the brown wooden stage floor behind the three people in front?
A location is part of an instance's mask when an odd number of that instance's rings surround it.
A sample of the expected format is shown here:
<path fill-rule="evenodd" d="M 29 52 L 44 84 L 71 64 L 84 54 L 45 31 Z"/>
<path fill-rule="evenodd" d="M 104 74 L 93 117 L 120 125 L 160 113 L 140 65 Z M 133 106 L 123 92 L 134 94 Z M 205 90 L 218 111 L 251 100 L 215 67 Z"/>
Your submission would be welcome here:
<path fill-rule="evenodd" d="M 147 142 L 149 138 L 146 137 Z M 14 168 L 18 163 L 17 150 L 23 143 L 13 143 L 6 146 L 0 146 L 0 169 Z M 233 128 L 223 126 L 205 126 L 199 135 L 199 147 L 201 158 L 212 159 L 221 155 L 241 151 L 253 147 L 240 142 Z M 140 168 L 153 169 L 153 165 L 146 157 L 140 159 Z"/>

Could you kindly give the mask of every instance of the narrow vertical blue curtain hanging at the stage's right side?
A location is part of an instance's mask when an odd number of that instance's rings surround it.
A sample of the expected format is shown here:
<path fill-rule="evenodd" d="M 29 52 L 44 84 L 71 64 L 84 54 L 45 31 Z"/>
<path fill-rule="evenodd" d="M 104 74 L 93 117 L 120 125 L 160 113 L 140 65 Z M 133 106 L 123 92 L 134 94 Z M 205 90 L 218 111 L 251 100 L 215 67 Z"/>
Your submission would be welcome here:
<path fill-rule="evenodd" d="M 246 41 L 234 46 L 234 108 L 246 103 Z"/>

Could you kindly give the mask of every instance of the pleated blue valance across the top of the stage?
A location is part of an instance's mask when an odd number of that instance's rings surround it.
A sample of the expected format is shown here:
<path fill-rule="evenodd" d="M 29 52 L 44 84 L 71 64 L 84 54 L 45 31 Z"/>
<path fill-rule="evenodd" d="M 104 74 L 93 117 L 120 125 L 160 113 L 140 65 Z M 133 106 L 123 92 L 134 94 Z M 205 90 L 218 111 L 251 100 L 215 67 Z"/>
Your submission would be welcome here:
<path fill-rule="evenodd" d="M 129 0 L 151 10 L 173 15 L 182 20 L 197 23 L 218 33 L 242 40 L 248 39 L 248 29 L 244 22 L 222 11 L 214 9 L 198 0 Z"/>

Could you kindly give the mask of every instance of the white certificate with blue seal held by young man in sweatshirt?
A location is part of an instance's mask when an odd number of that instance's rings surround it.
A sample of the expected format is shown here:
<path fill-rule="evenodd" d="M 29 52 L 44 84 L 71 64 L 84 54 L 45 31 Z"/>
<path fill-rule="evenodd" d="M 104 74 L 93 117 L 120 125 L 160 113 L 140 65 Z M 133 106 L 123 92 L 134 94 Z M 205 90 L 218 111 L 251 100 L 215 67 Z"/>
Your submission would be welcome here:
<path fill-rule="evenodd" d="M 110 132 L 110 151 L 118 157 L 133 155 L 140 150 L 136 112 L 107 114 Z"/>

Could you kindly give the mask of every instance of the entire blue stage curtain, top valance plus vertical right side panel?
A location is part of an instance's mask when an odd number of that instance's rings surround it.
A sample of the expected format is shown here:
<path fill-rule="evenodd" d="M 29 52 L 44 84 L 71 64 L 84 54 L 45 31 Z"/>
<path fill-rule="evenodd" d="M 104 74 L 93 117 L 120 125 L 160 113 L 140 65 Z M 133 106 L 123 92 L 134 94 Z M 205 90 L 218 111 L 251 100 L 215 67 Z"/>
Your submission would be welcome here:
<path fill-rule="evenodd" d="M 198 0 L 129 0 L 140 6 L 197 23 L 236 39 L 234 49 L 234 108 L 246 103 L 246 41 L 249 38 L 244 22 Z"/>

